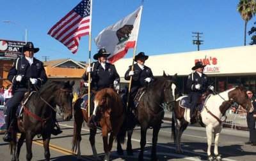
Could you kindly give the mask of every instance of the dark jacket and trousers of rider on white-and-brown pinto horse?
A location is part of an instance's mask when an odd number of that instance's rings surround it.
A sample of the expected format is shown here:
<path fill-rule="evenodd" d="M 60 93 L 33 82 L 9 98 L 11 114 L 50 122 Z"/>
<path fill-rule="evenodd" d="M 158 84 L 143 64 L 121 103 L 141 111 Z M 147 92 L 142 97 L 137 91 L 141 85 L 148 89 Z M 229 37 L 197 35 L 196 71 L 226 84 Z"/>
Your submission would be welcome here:
<path fill-rule="evenodd" d="M 196 89 L 196 85 L 200 85 L 200 89 Z M 195 115 L 196 108 L 198 106 L 198 101 L 202 94 L 204 94 L 209 86 L 207 75 L 202 73 L 202 76 L 195 71 L 188 76 L 187 90 L 189 92 L 189 100 L 191 103 L 190 107 L 190 117 Z"/>

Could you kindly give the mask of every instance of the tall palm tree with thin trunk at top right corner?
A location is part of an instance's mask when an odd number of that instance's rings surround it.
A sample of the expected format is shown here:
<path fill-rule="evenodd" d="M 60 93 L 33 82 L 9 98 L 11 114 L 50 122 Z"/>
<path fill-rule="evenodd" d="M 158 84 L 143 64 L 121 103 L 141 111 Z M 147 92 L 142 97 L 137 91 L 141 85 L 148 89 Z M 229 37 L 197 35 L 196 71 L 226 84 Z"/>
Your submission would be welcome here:
<path fill-rule="evenodd" d="M 252 19 L 256 12 L 255 0 L 240 0 L 237 4 L 237 11 L 244 20 L 244 46 L 246 46 L 246 27 L 247 22 Z"/>

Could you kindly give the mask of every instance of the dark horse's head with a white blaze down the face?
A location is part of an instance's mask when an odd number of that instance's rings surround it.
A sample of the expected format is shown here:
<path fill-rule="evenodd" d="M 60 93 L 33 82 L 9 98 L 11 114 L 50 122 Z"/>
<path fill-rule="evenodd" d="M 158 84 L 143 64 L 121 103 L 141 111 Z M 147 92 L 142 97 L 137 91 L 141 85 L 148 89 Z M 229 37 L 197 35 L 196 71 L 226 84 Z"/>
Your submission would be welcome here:
<path fill-rule="evenodd" d="M 174 76 L 163 74 L 165 79 L 164 81 L 164 102 L 167 105 L 167 109 L 172 111 L 172 108 L 175 106 L 175 95 L 177 95 L 177 86 L 176 86 L 176 79 L 177 74 Z"/>

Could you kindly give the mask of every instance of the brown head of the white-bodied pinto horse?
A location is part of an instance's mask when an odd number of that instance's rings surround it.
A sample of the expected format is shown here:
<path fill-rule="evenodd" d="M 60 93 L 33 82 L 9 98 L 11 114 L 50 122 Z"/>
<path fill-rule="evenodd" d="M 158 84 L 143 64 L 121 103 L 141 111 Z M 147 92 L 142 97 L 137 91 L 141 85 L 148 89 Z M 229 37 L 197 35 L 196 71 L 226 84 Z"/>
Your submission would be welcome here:
<path fill-rule="evenodd" d="M 246 111 L 252 112 L 253 105 L 252 101 L 246 94 L 246 89 L 243 87 L 236 87 L 234 90 L 228 92 L 228 98 L 240 104 Z"/>

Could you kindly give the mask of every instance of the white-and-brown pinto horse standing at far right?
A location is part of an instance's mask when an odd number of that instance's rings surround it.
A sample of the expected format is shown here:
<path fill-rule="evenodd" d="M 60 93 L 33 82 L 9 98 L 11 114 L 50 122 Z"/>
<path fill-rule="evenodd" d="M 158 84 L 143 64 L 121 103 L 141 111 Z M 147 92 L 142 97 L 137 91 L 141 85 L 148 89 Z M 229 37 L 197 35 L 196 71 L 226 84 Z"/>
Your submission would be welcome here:
<path fill-rule="evenodd" d="M 215 93 L 215 92 L 214 92 Z M 180 106 L 184 97 L 182 96 L 175 102 L 175 108 L 172 112 L 172 136 L 176 144 L 176 152 L 183 153 L 180 147 L 180 137 L 182 132 L 186 130 L 190 123 L 189 108 Z M 200 111 L 202 117 L 202 125 L 206 128 L 207 134 L 207 155 L 208 160 L 221 160 L 221 155 L 218 153 L 218 139 L 220 132 L 227 116 L 225 113 L 234 102 L 241 105 L 247 111 L 252 111 L 252 102 L 246 95 L 246 90 L 243 87 L 230 88 L 220 94 L 209 94 L 204 101 L 203 109 Z M 211 155 L 212 132 L 214 132 L 214 155 Z"/>

